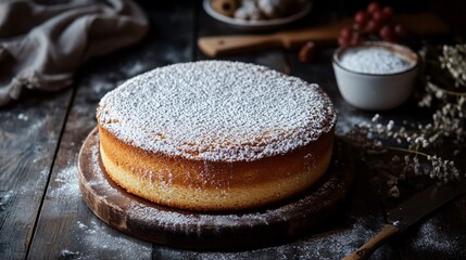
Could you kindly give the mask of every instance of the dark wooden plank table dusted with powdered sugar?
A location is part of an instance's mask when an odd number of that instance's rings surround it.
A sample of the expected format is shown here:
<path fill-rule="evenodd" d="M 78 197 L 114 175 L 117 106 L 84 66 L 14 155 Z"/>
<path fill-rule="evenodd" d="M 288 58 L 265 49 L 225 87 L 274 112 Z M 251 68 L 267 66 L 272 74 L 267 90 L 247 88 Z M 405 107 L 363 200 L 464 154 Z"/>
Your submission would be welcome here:
<path fill-rule="evenodd" d="M 191 251 L 151 244 L 108 226 L 88 209 L 78 190 L 77 155 L 96 127 L 99 100 L 137 74 L 207 58 L 198 50 L 200 36 L 238 32 L 210 18 L 199 1 L 171 2 L 144 5 L 152 26 L 148 37 L 88 62 L 72 88 L 29 93 L 20 104 L 0 109 L 0 259 L 339 259 L 378 232 L 387 202 L 376 195 L 377 186 L 363 171 L 348 208 L 320 231 L 247 251 Z M 330 64 L 333 50 L 324 48 L 311 64 L 300 63 L 295 51 L 280 50 L 222 58 L 266 65 L 319 83 L 338 108 L 341 134 L 374 113 L 357 110 L 341 99 Z M 415 113 L 406 112 L 410 107 L 385 116 L 416 120 Z M 466 259 L 465 206 L 466 196 L 449 203 L 381 247 L 374 259 Z"/>

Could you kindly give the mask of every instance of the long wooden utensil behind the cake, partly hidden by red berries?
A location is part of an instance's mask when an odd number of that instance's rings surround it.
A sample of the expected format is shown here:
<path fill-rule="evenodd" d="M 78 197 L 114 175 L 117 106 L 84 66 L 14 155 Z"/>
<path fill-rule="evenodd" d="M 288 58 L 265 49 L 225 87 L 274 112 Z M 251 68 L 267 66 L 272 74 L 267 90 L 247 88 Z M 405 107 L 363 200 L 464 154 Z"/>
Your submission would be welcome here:
<path fill-rule="evenodd" d="M 395 21 L 406 27 L 411 34 L 431 37 L 448 32 L 446 24 L 432 13 L 398 15 Z M 284 30 L 268 35 L 235 35 L 201 37 L 198 46 L 211 57 L 239 54 L 263 49 L 293 49 L 302 47 L 306 41 L 337 44 L 337 38 L 343 26 L 351 25 L 352 20 L 343 20 L 305 29 Z"/>

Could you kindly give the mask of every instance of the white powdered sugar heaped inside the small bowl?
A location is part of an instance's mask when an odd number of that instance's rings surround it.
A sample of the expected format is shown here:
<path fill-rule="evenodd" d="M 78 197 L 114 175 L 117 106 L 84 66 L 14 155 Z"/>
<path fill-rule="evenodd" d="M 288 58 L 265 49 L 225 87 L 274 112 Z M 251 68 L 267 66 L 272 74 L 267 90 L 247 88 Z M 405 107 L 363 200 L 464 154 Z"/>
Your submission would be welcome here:
<path fill-rule="evenodd" d="M 407 70 L 414 63 L 382 47 L 350 49 L 340 56 L 342 67 L 356 73 L 395 74 Z"/>

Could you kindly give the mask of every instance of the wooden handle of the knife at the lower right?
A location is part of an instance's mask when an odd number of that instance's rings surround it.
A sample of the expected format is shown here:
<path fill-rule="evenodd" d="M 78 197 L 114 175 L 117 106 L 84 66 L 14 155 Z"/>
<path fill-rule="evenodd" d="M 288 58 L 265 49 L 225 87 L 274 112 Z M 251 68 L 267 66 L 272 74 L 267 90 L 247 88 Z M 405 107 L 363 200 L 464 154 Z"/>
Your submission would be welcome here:
<path fill-rule="evenodd" d="M 383 245 L 390 237 L 398 235 L 400 233 L 400 229 L 387 224 L 383 229 L 375 236 L 373 236 L 366 244 L 357 248 L 357 250 L 344 257 L 342 260 L 360 260 L 367 259 L 373 255 L 373 252 Z"/>

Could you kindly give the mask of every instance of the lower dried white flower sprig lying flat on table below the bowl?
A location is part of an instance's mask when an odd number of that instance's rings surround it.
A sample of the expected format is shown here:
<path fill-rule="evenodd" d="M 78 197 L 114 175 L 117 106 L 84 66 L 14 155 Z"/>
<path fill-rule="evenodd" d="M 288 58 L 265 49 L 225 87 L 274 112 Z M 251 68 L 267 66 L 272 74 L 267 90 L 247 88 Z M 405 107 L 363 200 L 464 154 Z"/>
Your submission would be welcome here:
<path fill-rule="evenodd" d="M 450 138 L 449 131 L 442 129 L 440 123 L 419 123 L 416 127 L 398 127 L 393 120 L 382 123 L 377 114 L 370 123 L 357 125 L 347 138 L 367 155 L 365 157 L 369 157 L 368 164 L 373 169 L 388 179 L 389 195 L 396 197 L 400 195 L 399 181 L 410 176 L 426 176 L 441 183 L 459 178 L 454 159 L 434 154 L 445 143 L 445 138 Z M 391 161 L 387 161 L 387 156 L 391 157 Z"/>

